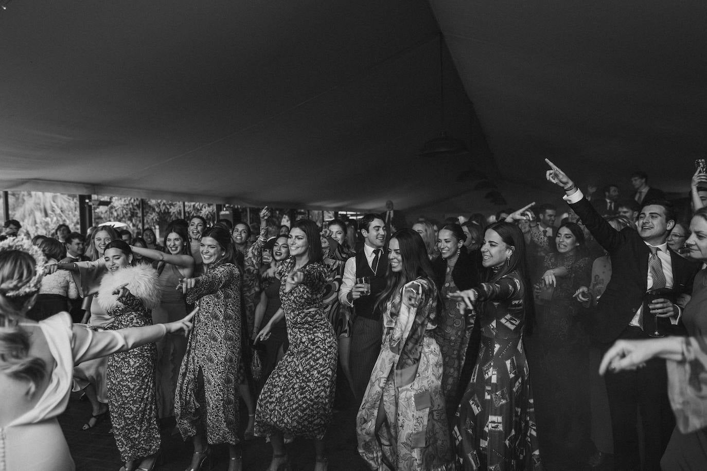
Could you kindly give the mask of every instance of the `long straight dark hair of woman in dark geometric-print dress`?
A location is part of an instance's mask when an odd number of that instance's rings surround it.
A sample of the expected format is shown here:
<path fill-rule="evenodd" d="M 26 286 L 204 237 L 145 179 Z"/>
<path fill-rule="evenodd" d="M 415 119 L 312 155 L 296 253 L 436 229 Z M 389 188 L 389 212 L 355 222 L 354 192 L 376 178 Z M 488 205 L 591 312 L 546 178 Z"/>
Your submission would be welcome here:
<path fill-rule="evenodd" d="M 496 222 L 486 228 L 487 231 L 493 230 L 496 232 L 501 240 L 508 245 L 513 246 L 513 254 L 511 254 L 508 263 L 503 265 L 501 270 L 497 273 L 493 273 L 492 270 L 488 270 L 486 274 L 486 279 L 491 282 L 497 281 L 499 278 L 512 273 L 513 271 L 518 272 L 518 278 L 525 285 L 523 305 L 525 309 L 525 333 L 532 334 L 532 328 L 535 323 L 535 304 L 532 295 L 532 285 L 530 284 L 530 273 L 527 269 L 527 258 L 525 252 L 525 239 L 523 238 L 523 233 L 520 232 L 520 228 L 511 224 L 510 222 Z"/>

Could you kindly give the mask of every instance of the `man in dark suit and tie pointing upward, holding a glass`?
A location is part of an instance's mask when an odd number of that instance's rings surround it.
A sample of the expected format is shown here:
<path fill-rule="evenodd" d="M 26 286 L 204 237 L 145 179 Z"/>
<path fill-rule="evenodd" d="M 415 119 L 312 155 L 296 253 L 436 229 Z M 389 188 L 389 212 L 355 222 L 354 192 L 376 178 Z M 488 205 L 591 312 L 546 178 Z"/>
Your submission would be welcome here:
<path fill-rule="evenodd" d="M 564 199 L 611 256 L 612 279 L 597 305 L 593 340 L 607 349 L 619 338 L 648 339 L 653 316 L 670 318 L 672 324 L 677 324 L 682 309 L 670 299 L 643 303 L 645 292 L 660 285 L 672 288 L 675 296 L 690 294 L 699 270 L 695 263 L 667 248 L 667 236 L 675 225 L 672 205 L 667 201 L 647 201 L 638 215 L 638 232 L 629 228 L 617 232 L 585 200 L 573 181 L 547 162 L 551 166 L 547 179 L 565 190 Z M 643 470 L 660 470 L 660 458 L 674 428 L 665 360 L 651 359 L 636 371 L 609 374 L 606 382 L 616 469 L 641 467 L 636 431 L 636 411 L 640 410 L 645 441 Z"/>

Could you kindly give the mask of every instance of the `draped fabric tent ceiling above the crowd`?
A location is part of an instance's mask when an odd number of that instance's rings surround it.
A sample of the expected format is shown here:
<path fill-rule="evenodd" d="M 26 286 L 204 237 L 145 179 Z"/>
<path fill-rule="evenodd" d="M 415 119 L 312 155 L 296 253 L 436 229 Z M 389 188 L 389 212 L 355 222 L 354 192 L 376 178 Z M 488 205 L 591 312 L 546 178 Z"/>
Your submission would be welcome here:
<path fill-rule="evenodd" d="M 515 205 L 552 194 L 549 156 L 587 181 L 644 167 L 679 191 L 707 147 L 706 13 L 694 0 L 14 0 L 0 11 L 0 186 L 488 210 L 460 172 Z M 417 155 L 441 127 L 440 28 L 462 78 L 447 60 L 445 127 L 466 159 Z"/>

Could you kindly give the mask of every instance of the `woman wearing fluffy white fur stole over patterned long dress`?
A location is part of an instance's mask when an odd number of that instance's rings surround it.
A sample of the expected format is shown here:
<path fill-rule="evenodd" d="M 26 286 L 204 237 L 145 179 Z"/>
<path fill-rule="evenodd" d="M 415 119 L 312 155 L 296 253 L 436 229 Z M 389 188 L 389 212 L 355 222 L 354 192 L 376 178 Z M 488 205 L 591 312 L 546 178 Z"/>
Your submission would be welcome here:
<path fill-rule="evenodd" d="M 107 273 L 94 302 L 114 319 L 107 330 L 151 326 L 151 310 L 160 304 L 156 271 L 144 264 L 132 266 L 132 250 L 122 240 L 110 242 L 103 259 Z M 138 463 L 141 469 L 152 469 L 160 451 L 156 358 L 154 343 L 108 357 L 108 408 L 124 471 L 135 470 Z"/>

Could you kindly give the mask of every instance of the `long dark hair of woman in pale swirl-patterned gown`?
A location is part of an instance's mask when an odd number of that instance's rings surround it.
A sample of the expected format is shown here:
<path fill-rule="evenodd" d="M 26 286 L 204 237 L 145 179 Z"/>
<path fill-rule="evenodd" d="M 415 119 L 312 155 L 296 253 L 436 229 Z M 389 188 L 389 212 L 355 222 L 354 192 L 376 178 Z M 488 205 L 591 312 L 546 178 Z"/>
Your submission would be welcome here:
<path fill-rule="evenodd" d="M 375 300 L 373 311 L 385 309 L 385 304 L 395 295 L 395 292 L 407 282 L 417 278 L 427 278 L 430 284 L 436 288 L 434 283 L 435 274 L 432 270 L 430 258 L 427 256 L 427 249 L 420 234 L 412 229 L 400 229 L 392 234 L 390 239 L 396 239 L 400 246 L 400 258 L 402 258 L 402 270 L 395 273 L 388 266 L 385 275 L 385 289 Z"/>

